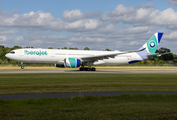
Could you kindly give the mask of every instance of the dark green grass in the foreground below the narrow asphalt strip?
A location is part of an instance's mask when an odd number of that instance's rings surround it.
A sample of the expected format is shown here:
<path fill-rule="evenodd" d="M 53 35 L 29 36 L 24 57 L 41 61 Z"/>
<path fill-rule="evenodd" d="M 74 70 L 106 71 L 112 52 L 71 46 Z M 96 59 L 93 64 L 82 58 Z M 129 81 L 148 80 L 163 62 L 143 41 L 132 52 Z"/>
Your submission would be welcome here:
<path fill-rule="evenodd" d="M 175 120 L 176 100 L 177 95 L 156 94 L 0 100 L 0 119 Z"/>

